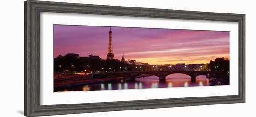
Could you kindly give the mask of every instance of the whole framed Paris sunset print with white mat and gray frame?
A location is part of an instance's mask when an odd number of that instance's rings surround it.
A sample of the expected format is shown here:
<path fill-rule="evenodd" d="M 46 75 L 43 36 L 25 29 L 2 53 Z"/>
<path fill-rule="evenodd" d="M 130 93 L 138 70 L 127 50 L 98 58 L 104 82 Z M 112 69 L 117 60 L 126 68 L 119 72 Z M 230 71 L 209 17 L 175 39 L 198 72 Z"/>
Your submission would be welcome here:
<path fill-rule="evenodd" d="M 245 15 L 28 0 L 24 115 L 245 102 Z"/>

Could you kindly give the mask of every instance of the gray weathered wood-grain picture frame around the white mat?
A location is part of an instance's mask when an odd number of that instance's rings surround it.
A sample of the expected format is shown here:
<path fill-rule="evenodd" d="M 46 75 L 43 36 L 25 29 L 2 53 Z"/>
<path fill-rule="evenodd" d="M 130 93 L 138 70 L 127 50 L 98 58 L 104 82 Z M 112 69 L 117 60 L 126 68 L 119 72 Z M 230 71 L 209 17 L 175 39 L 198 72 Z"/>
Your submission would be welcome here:
<path fill-rule="evenodd" d="M 87 104 L 40 105 L 40 12 L 84 13 L 239 24 L 239 94 Z M 245 102 L 245 15 L 167 9 L 117 7 L 28 0 L 24 2 L 24 115 L 43 116 Z"/>

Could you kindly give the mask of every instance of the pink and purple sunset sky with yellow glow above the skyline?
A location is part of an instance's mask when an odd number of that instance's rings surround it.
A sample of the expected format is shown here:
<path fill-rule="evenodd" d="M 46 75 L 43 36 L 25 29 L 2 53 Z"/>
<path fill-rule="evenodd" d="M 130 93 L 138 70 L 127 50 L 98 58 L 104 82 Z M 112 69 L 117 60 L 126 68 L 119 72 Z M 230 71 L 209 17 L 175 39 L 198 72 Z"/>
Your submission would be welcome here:
<path fill-rule="evenodd" d="M 110 27 L 54 25 L 54 57 L 67 53 L 106 59 Z M 115 59 L 153 64 L 209 63 L 229 58 L 229 32 L 111 27 Z"/>

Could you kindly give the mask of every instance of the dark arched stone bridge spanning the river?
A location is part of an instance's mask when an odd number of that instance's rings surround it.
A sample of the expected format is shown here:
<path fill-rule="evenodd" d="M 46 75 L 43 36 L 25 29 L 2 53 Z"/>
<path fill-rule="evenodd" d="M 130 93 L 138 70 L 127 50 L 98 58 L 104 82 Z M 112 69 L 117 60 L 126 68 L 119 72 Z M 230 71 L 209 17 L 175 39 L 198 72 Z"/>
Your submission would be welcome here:
<path fill-rule="evenodd" d="M 210 77 L 223 77 L 224 71 L 119 71 L 119 72 L 104 72 L 93 74 L 94 79 L 111 78 L 111 77 L 123 77 L 126 80 L 133 80 L 142 74 L 150 74 L 159 77 L 159 80 L 165 80 L 166 76 L 174 73 L 182 73 L 189 75 L 192 81 L 199 75 L 209 75 Z"/>

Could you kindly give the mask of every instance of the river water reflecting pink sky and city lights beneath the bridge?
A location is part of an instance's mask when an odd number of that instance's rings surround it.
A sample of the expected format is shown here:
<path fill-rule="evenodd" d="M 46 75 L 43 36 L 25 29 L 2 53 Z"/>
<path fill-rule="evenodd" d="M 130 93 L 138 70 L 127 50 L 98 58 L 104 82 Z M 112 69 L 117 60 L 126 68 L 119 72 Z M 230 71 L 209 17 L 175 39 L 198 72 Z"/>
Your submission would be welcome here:
<path fill-rule="evenodd" d="M 145 89 L 145 88 L 171 88 L 189 86 L 208 86 L 209 79 L 201 75 L 191 82 L 191 77 L 185 74 L 175 73 L 168 75 L 165 82 L 159 82 L 157 76 L 136 78 L 135 81 L 112 81 L 89 85 L 74 86 L 61 91 L 95 91 L 95 90 L 122 90 L 122 89 Z"/>

